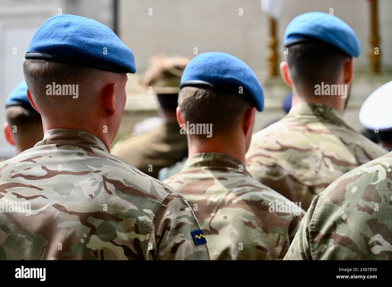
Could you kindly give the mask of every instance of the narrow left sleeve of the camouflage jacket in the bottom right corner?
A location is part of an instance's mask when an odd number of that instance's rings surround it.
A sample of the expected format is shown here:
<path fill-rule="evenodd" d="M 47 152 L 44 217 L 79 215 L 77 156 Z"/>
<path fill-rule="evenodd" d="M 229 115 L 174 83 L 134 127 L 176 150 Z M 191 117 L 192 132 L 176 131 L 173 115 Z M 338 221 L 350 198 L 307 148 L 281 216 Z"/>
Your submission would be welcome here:
<path fill-rule="evenodd" d="M 310 221 L 312 220 L 314 208 L 317 205 L 319 195 L 312 201 L 310 207 L 299 224 L 298 231 L 290 232 L 295 234 L 294 239 L 290 239 L 291 245 L 284 260 L 312 260 L 311 238 L 310 238 Z"/>

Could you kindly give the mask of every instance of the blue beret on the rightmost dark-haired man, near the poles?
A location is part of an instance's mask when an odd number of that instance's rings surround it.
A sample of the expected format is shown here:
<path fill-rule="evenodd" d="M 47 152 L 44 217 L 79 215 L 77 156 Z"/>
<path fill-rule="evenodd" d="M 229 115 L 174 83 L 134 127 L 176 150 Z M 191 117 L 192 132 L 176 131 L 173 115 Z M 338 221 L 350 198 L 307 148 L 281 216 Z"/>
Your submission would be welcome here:
<path fill-rule="evenodd" d="M 338 47 L 350 56 L 358 57 L 361 44 L 354 30 L 336 16 L 323 12 L 309 12 L 295 17 L 287 25 L 284 44 L 306 42 L 312 38 Z"/>

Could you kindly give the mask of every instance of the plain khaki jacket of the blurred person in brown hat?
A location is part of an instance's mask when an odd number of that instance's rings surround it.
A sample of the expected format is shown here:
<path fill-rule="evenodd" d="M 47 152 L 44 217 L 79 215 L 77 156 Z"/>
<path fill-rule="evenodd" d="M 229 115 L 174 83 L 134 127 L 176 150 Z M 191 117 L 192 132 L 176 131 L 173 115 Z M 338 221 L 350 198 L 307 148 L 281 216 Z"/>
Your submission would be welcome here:
<path fill-rule="evenodd" d="M 152 131 L 119 140 L 111 153 L 158 178 L 162 168 L 174 165 L 187 155 L 187 136 L 180 134 L 177 120 L 165 120 Z"/>

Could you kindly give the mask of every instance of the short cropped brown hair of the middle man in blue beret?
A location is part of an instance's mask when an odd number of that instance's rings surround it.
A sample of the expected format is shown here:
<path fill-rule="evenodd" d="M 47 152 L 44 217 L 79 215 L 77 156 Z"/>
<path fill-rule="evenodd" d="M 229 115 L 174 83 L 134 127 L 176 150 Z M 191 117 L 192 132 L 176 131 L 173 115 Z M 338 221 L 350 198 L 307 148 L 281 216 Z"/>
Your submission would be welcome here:
<path fill-rule="evenodd" d="M 184 122 L 212 124 L 213 133 L 230 134 L 243 113 L 255 104 L 246 91 L 184 87 L 178 95 Z"/>

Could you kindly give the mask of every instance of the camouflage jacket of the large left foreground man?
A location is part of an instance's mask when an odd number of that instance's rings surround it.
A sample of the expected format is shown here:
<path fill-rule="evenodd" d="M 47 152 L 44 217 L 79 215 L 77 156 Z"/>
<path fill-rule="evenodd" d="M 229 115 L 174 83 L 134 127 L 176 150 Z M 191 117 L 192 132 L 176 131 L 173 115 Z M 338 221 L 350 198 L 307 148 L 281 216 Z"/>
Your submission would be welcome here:
<path fill-rule="evenodd" d="M 0 259 L 208 260 L 194 230 L 178 192 L 89 133 L 52 129 L 0 163 Z"/>

